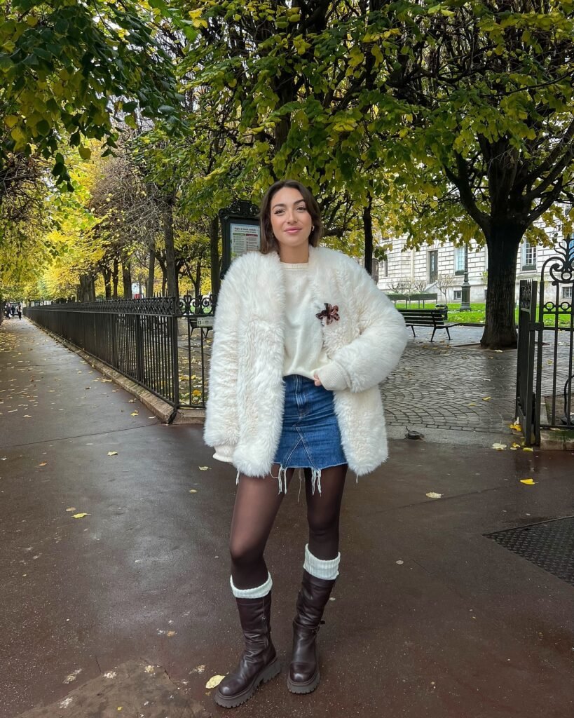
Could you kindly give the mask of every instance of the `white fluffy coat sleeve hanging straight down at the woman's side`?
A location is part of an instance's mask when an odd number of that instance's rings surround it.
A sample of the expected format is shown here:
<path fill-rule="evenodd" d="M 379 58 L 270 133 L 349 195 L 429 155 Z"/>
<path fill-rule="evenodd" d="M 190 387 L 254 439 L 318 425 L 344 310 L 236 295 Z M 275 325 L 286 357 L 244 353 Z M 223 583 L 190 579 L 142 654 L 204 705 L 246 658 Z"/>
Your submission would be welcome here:
<path fill-rule="evenodd" d="M 210 364 L 209 397 L 205 409 L 204 442 L 211 447 L 235 447 L 237 416 L 237 351 L 240 315 L 239 267 L 232 266 L 222 281 L 215 320 Z"/>

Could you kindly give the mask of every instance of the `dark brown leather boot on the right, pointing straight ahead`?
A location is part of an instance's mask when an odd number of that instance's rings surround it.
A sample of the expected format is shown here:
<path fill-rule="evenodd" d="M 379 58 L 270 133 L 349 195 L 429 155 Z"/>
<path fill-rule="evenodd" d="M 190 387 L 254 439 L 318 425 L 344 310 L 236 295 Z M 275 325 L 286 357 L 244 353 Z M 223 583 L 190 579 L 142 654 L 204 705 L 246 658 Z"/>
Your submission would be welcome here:
<path fill-rule="evenodd" d="M 318 579 L 303 572 L 297 597 L 297 615 L 293 620 L 293 657 L 287 677 L 287 688 L 291 693 L 311 693 L 319 686 L 317 631 L 323 623 L 321 617 L 334 584 L 334 581 Z"/>

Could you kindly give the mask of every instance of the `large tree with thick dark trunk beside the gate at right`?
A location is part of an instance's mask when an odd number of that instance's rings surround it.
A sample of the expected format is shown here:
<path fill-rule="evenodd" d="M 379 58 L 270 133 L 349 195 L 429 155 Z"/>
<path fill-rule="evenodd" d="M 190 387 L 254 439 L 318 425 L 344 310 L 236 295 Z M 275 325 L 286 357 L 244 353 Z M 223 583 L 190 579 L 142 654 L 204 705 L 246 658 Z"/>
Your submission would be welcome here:
<path fill-rule="evenodd" d="M 438 229 L 486 243 L 481 344 L 516 346 L 519 243 L 548 241 L 537 220 L 572 228 L 573 5 L 444 2 L 410 9 L 397 32 L 402 59 L 387 57 L 387 83 L 412 122 L 387 161 L 402 167 L 411 205 L 403 229 L 413 246 Z"/>

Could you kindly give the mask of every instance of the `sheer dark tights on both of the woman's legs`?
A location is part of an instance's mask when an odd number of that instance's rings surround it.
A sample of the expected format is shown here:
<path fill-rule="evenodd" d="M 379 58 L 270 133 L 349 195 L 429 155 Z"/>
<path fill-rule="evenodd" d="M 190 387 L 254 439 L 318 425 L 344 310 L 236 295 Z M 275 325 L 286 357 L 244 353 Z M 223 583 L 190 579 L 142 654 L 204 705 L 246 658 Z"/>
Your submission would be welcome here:
<path fill-rule="evenodd" d="M 230 553 L 233 584 L 238 589 L 255 588 L 267 580 L 263 559 L 265 544 L 273 528 L 283 494 L 278 493 L 278 465 L 261 477 L 240 475 L 231 521 Z M 294 469 L 287 470 L 287 484 Z M 329 561 L 339 553 L 339 513 L 347 475 L 347 465 L 321 471 L 321 493 L 311 493 L 311 470 L 305 470 L 309 551 L 317 559 Z"/>

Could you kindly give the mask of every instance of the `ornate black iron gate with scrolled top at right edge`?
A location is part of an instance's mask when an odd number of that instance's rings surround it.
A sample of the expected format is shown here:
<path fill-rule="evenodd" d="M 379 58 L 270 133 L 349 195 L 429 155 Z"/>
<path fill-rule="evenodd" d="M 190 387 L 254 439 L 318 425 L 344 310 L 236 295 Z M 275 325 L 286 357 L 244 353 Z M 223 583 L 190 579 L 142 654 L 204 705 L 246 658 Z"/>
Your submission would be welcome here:
<path fill-rule="evenodd" d="M 560 241 L 540 281 L 520 282 L 516 414 L 525 444 L 541 429 L 574 429 L 574 239 Z"/>

